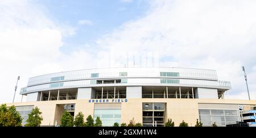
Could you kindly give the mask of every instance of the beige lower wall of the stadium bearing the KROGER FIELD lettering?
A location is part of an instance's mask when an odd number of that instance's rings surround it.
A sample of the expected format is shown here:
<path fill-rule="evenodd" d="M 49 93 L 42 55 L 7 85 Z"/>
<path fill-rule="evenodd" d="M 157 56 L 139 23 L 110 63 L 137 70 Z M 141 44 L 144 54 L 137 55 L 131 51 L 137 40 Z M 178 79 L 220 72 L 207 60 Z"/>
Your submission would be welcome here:
<path fill-rule="evenodd" d="M 7 103 L 7 106 L 38 106 L 42 112 L 42 126 L 54 125 L 55 120 L 59 118 L 57 104 L 75 104 L 75 116 L 81 111 L 85 119 L 88 115 L 93 116 L 94 103 L 89 103 L 89 99 L 83 100 L 61 100 L 61 101 L 38 101 L 23 103 Z M 170 118 L 175 122 L 175 126 L 184 120 L 189 126 L 195 126 L 196 119 L 199 119 L 199 104 L 247 104 L 255 105 L 255 100 L 230 100 L 230 99 L 128 99 L 121 103 L 121 123 L 129 123 L 133 119 L 136 123 L 142 123 L 142 103 L 166 103 L 166 119 Z M 238 106 L 237 106 L 238 107 Z M 57 111 L 57 112 L 56 112 Z M 165 119 L 165 120 L 166 120 Z"/>

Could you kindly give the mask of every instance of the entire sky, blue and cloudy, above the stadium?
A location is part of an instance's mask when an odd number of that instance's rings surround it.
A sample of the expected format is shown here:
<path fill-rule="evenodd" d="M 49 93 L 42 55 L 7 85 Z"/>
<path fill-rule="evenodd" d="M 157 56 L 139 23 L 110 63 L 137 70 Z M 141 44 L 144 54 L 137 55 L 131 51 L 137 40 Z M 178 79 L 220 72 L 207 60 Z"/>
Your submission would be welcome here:
<path fill-rule="evenodd" d="M 1 0 L 0 103 L 28 78 L 123 66 L 217 70 L 228 99 L 256 99 L 254 0 Z M 135 63 L 135 65 L 134 65 Z M 26 99 L 26 98 L 25 98 Z"/>

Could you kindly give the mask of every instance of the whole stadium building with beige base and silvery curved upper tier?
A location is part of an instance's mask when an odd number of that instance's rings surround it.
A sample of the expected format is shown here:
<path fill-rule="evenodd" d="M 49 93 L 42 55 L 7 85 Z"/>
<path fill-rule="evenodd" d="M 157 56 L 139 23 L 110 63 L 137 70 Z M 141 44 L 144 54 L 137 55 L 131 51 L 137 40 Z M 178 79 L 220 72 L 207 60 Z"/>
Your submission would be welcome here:
<path fill-rule="evenodd" d="M 104 126 L 133 119 L 143 126 L 164 126 L 170 118 L 195 126 L 255 122 L 256 101 L 225 99 L 232 87 L 220 81 L 216 70 L 192 68 L 104 68 L 59 72 L 29 78 L 20 94 L 26 102 L 15 105 L 26 123 L 38 106 L 42 126 L 57 126 L 64 110 L 76 116 L 100 116 Z M 246 113 L 250 115 L 247 117 Z M 246 114 L 246 115 L 243 115 Z M 243 115 L 243 116 L 242 116 Z M 254 123 L 252 123 L 254 124 Z"/>

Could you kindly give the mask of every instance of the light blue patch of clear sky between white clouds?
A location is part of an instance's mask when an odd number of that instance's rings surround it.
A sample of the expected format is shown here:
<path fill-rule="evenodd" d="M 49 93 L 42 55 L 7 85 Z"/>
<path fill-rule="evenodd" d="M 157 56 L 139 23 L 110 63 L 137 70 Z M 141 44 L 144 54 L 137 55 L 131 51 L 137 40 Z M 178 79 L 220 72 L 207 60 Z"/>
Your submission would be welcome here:
<path fill-rule="evenodd" d="M 94 42 L 124 22 L 141 18 L 148 10 L 148 3 L 139 1 L 104 0 L 44 0 L 38 1 L 44 11 L 55 22 L 76 27 L 75 35 L 64 37 L 60 50 L 69 53 L 78 47 L 96 47 Z M 90 24 L 79 24 L 89 20 Z"/>

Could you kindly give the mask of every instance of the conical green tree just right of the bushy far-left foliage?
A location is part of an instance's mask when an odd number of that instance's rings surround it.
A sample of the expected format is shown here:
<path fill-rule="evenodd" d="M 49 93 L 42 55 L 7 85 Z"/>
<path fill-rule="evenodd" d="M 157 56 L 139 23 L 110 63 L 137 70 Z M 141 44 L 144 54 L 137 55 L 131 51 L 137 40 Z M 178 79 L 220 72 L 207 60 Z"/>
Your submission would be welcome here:
<path fill-rule="evenodd" d="M 42 112 L 39 111 L 38 107 L 35 107 L 32 109 L 30 114 L 28 114 L 27 124 L 25 124 L 26 127 L 40 127 L 40 124 L 42 123 L 43 117 Z"/>

